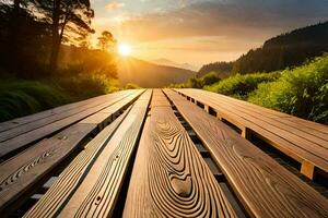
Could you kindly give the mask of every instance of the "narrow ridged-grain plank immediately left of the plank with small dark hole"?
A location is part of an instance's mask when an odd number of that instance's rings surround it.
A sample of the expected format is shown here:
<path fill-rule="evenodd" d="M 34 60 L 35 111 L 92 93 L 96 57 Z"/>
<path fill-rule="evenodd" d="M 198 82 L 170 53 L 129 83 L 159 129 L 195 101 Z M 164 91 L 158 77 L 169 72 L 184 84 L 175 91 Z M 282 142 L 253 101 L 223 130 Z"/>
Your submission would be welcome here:
<path fill-rule="evenodd" d="M 59 214 L 65 203 L 78 189 L 85 178 L 87 170 L 104 149 L 119 124 L 125 120 L 130 109 L 105 128 L 85 149 L 60 173 L 58 180 L 51 185 L 46 194 L 24 215 L 24 217 L 55 217 Z"/>

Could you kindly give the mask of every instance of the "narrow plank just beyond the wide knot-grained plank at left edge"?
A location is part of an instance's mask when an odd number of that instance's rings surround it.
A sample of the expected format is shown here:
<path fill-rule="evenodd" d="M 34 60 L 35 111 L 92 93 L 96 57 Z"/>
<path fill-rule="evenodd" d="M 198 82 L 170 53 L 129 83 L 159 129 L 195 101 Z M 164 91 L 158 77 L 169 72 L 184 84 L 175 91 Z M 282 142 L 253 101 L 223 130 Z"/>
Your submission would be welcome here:
<path fill-rule="evenodd" d="M 141 90 L 136 90 L 136 92 L 141 92 Z M 132 95 L 132 93 L 128 93 L 128 95 Z M 55 122 L 50 122 L 47 125 L 43 125 L 40 128 L 36 128 L 33 130 L 30 130 L 26 133 L 23 133 L 21 135 L 16 135 L 15 137 L 12 137 L 8 141 L 1 142 L 0 143 L 0 158 L 3 156 L 8 156 L 10 153 L 13 153 L 15 149 L 21 149 L 24 148 L 25 146 L 37 142 L 47 135 L 54 134 L 75 122 L 79 122 L 80 120 L 94 114 L 98 112 L 99 110 L 109 107 L 110 105 L 124 99 L 125 97 L 128 96 L 125 93 L 120 93 L 118 95 L 114 95 L 113 97 L 106 96 L 105 101 L 102 101 L 102 104 L 87 108 L 82 110 L 81 112 L 71 114 L 70 117 L 63 118 L 61 120 L 57 120 Z M 30 123 L 27 124 L 30 125 Z M 19 126 L 21 129 L 21 126 Z M 11 129 L 10 131 L 14 131 L 15 129 Z M 4 133 L 4 132 L 2 132 Z"/>

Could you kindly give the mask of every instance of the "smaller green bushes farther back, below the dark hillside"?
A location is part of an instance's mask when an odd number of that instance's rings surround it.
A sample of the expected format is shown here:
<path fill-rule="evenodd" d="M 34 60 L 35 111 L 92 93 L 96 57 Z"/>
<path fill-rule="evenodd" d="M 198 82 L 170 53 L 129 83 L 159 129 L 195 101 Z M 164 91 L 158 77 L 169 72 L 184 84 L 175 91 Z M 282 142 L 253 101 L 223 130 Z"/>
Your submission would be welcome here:
<path fill-rule="evenodd" d="M 237 74 L 213 85 L 206 86 L 204 89 L 246 99 L 248 94 L 257 88 L 258 84 L 276 81 L 279 76 L 279 72 Z"/>

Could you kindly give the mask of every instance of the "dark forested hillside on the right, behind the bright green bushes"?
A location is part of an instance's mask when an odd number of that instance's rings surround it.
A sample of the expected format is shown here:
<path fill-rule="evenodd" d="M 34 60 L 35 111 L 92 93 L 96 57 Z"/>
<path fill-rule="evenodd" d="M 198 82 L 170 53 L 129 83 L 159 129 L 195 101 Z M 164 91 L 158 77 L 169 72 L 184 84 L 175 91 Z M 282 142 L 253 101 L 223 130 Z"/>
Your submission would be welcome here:
<path fill-rule="evenodd" d="M 307 26 L 267 40 L 261 48 L 251 49 L 234 62 L 216 62 L 203 65 L 198 72 L 204 75 L 216 72 L 246 74 L 272 72 L 297 66 L 306 60 L 328 51 L 328 22 Z"/>

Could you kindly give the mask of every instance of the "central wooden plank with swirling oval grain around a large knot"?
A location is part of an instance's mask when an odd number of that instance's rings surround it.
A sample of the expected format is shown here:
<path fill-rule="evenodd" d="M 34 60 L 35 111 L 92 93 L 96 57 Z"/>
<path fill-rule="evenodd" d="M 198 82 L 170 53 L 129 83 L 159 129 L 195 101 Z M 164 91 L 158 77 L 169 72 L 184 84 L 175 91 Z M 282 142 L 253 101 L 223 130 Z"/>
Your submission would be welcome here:
<path fill-rule="evenodd" d="M 154 95 L 122 217 L 236 217 L 172 108 L 156 102 Z"/>

